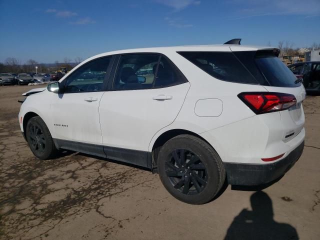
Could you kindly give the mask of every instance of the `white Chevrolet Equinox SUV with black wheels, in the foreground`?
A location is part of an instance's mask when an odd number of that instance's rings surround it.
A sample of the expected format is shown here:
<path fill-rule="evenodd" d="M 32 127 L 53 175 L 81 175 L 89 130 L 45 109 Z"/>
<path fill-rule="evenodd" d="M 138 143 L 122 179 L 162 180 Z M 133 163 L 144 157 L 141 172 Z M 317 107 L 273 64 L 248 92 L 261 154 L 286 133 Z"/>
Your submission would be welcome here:
<path fill-rule="evenodd" d="M 239 44 L 119 50 L 30 90 L 19 123 L 40 159 L 70 149 L 158 172 L 201 204 L 226 180 L 281 177 L 304 143 L 305 90 L 279 50 Z"/>

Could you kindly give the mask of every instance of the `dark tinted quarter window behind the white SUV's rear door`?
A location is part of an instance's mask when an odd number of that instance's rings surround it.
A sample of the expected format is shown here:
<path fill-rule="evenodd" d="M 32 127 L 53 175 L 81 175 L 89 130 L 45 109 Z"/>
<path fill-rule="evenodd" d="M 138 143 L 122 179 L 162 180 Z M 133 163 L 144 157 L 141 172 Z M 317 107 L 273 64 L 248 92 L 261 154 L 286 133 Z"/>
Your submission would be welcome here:
<path fill-rule="evenodd" d="M 178 53 L 220 80 L 259 84 L 232 52 L 183 51 Z"/>

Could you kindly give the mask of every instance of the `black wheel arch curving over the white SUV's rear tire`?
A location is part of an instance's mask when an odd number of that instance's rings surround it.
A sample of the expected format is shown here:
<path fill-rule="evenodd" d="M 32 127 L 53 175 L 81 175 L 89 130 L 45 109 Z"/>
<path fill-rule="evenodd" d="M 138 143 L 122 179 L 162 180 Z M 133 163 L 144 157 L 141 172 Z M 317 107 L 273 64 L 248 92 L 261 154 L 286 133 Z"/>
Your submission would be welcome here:
<path fill-rule="evenodd" d="M 152 148 L 151 148 L 151 170 L 153 173 L 157 172 L 157 154 L 160 150 L 160 148 L 162 147 L 162 145 L 167 142 L 169 139 L 171 139 L 172 137 L 175 137 L 177 135 L 182 135 L 182 134 L 188 134 L 188 135 L 192 135 L 192 136 L 196 136 L 200 139 L 202 139 L 203 141 L 205 141 L 206 143 L 208 143 L 213 149 L 214 147 L 202 136 L 200 136 L 199 134 L 193 132 L 193 131 L 189 131 L 189 130 L 185 130 L 185 129 L 170 129 L 167 130 L 165 132 L 162 132 L 154 141 Z"/>

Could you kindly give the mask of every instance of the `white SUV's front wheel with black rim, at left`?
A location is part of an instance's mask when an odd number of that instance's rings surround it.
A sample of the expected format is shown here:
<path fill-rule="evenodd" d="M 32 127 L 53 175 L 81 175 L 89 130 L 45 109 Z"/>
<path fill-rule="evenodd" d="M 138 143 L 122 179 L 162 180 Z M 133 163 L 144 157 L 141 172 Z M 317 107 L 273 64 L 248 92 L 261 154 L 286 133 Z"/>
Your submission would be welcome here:
<path fill-rule="evenodd" d="M 25 128 L 26 140 L 32 153 L 41 160 L 53 158 L 57 149 L 46 124 L 39 116 L 31 117 Z"/>

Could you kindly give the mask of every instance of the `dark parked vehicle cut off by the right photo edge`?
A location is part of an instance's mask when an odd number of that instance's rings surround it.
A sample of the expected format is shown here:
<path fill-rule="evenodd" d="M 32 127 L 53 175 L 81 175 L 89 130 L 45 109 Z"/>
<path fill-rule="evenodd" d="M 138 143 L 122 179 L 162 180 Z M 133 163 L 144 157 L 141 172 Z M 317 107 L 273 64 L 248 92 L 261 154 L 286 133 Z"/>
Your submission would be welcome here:
<path fill-rule="evenodd" d="M 297 78 L 303 79 L 307 94 L 320 94 L 320 61 L 306 61 L 288 65 Z"/>

